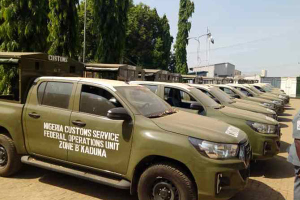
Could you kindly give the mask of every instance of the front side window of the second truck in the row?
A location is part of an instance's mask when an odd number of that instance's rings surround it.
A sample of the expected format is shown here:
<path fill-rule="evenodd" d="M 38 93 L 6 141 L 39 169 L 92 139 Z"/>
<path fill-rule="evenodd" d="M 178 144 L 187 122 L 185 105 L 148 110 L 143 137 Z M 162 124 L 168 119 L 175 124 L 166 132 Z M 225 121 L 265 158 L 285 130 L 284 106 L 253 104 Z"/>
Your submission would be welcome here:
<path fill-rule="evenodd" d="M 190 103 L 196 101 L 185 91 L 171 87 L 164 87 L 164 100 L 172 106 L 188 109 L 190 108 Z"/>

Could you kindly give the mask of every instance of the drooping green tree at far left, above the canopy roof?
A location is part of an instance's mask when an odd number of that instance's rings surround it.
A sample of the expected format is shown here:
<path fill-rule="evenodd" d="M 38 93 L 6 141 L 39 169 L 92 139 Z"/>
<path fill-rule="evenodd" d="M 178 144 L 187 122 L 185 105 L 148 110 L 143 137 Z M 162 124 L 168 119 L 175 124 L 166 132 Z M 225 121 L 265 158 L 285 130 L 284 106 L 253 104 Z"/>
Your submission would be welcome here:
<path fill-rule="evenodd" d="M 0 0 L 0 50 L 45 52 L 47 0 Z"/>

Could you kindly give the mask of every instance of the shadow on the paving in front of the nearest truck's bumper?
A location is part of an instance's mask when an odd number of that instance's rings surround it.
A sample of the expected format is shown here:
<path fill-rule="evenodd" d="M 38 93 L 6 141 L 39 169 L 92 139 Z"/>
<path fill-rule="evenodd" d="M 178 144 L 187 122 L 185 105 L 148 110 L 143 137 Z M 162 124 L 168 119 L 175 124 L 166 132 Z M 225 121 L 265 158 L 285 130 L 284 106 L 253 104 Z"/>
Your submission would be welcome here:
<path fill-rule="evenodd" d="M 249 179 L 247 187 L 243 191 L 237 193 L 234 197 L 230 198 L 230 200 L 252 200 L 270 196 L 276 196 L 276 200 L 285 200 L 284 196 L 282 196 L 280 192 L 258 180 Z"/>

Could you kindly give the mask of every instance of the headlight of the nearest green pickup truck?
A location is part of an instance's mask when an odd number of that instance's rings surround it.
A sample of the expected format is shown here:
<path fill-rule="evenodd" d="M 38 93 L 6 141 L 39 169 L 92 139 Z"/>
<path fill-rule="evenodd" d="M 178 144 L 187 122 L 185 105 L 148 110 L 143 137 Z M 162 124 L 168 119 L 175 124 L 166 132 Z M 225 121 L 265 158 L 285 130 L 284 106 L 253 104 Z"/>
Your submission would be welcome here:
<path fill-rule="evenodd" d="M 238 144 L 225 144 L 205 141 L 193 137 L 188 138 L 189 142 L 204 155 L 212 159 L 237 157 Z"/>

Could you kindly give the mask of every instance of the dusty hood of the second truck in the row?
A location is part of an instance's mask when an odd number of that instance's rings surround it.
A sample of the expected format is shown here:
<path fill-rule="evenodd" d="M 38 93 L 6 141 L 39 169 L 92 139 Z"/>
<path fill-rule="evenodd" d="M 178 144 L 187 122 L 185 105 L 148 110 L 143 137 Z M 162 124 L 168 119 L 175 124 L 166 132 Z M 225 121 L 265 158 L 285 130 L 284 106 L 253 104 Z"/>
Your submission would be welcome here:
<path fill-rule="evenodd" d="M 272 124 L 272 125 L 278 124 L 278 121 L 276 121 L 275 119 L 273 119 L 271 117 L 265 116 L 260 113 L 251 112 L 248 110 L 225 106 L 225 107 L 219 109 L 219 111 L 221 113 L 225 114 L 226 116 L 230 116 L 230 117 L 234 117 L 234 118 L 238 118 L 238 119 L 255 121 L 255 122 L 259 122 L 259 123 L 267 123 L 267 124 Z"/>

